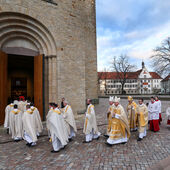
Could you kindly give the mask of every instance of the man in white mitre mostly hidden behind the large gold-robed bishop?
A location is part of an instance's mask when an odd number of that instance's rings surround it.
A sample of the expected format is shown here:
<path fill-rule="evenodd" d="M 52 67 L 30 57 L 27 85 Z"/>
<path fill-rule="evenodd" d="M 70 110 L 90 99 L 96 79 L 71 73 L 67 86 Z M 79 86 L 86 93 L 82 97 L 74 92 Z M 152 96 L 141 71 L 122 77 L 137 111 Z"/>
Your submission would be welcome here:
<path fill-rule="evenodd" d="M 113 104 L 114 104 L 114 97 L 110 96 L 109 97 L 109 108 L 107 111 L 107 120 L 108 120 L 108 124 L 107 124 L 107 134 L 104 135 L 105 137 L 109 137 L 109 134 L 111 132 L 111 125 L 112 125 L 112 110 L 113 110 Z"/>

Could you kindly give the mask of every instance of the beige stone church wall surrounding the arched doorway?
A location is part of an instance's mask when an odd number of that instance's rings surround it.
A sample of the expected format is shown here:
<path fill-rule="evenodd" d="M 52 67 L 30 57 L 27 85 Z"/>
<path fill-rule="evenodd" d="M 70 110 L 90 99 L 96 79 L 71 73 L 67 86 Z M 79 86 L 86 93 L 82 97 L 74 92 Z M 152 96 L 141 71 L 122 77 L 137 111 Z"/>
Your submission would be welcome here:
<path fill-rule="evenodd" d="M 31 22 L 35 19 L 31 28 L 34 34 L 30 34 L 37 38 L 37 44 L 42 24 L 45 31 L 41 33 L 43 38 L 38 50 L 46 56 L 46 108 L 48 102 L 60 102 L 61 97 L 65 97 L 76 114 L 85 109 L 87 98 L 97 98 L 95 1 L 53 2 L 57 5 L 42 0 L 0 0 L 0 14 L 13 15 L 14 12 L 29 16 L 33 19 Z"/>

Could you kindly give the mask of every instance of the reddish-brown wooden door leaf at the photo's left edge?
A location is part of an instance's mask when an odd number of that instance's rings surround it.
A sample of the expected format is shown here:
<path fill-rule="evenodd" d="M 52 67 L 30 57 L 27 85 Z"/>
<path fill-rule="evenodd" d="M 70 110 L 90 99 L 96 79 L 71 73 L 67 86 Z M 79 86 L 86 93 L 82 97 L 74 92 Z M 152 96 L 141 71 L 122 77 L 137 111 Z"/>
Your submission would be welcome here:
<path fill-rule="evenodd" d="M 8 55 L 0 51 L 0 125 L 4 123 L 7 105 Z"/>

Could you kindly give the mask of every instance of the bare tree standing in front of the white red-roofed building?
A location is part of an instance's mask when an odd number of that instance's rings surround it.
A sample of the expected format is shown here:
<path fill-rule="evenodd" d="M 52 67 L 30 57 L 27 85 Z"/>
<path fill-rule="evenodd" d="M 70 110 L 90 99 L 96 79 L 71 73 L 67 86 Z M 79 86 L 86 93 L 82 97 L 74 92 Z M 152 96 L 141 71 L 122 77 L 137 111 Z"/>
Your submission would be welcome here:
<path fill-rule="evenodd" d="M 121 93 L 124 94 L 124 85 L 128 79 L 129 72 L 134 71 L 135 65 L 129 63 L 129 57 L 127 55 L 121 55 L 119 57 L 114 57 L 111 63 L 113 71 L 117 74 L 117 80 L 121 83 Z"/>

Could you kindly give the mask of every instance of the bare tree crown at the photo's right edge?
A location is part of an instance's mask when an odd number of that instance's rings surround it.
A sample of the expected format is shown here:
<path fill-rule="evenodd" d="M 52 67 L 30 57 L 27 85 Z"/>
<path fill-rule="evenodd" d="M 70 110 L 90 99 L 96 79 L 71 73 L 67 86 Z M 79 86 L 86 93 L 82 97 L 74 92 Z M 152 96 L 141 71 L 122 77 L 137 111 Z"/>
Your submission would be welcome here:
<path fill-rule="evenodd" d="M 154 55 L 151 56 L 153 67 L 160 75 L 170 72 L 170 37 L 163 41 L 160 47 L 154 49 Z"/>

